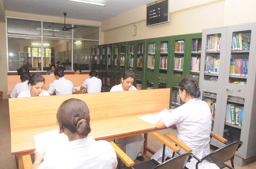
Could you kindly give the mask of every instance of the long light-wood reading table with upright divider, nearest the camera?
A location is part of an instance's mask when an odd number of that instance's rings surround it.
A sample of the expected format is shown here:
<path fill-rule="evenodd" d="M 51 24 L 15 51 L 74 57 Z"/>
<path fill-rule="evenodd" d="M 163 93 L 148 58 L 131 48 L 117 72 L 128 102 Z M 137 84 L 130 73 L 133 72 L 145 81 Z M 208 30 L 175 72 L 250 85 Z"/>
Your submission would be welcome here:
<path fill-rule="evenodd" d="M 168 109 L 170 88 L 9 98 L 11 152 L 18 155 L 19 164 L 23 164 L 23 155 L 35 150 L 34 135 L 59 129 L 57 109 L 70 98 L 81 99 L 87 104 L 92 129 L 89 136 L 95 140 L 111 140 L 144 133 L 144 137 L 147 137 L 148 132 L 158 130 L 156 124 L 145 122 L 138 116 Z M 144 150 L 154 153 L 146 146 L 146 140 Z"/>

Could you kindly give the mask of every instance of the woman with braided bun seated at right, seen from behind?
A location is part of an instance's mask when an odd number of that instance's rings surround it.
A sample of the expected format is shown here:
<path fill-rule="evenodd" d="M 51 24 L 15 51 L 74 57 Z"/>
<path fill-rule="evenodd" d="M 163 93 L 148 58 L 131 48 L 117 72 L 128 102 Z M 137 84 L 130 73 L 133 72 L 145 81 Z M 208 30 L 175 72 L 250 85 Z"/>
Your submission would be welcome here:
<path fill-rule="evenodd" d="M 198 158 L 203 158 L 210 153 L 210 134 L 212 127 L 211 111 L 208 104 L 199 100 L 200 91 L 197 82 L 191 78 L 184 78 L 179 83 L 180 98 L 185 104 L 176 109 L 170 109 L 170 114 L 156 123 L 158 129 L 176 124 L 178 139 L 193 150 Z M 164 157 L 172 158 L 172 150 L 165 148 Z M 181 149 L 180 153 L 185 153 Z M 151 159 L 162 162 L 163 148 L 158 150 Z M 192 158 L 186 167 L 196 168 L 197 160 Z M 218 168 L 217 165 L 204 160 L 198 165 L 200 168 Z"/>

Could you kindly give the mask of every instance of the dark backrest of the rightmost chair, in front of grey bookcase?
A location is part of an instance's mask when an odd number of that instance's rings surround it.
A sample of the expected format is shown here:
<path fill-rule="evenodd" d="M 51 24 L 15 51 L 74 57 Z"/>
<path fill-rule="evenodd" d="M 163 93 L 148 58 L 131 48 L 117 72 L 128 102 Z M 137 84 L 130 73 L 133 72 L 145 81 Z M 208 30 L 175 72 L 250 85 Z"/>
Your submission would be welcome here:
<path fill-rule="evenodd" d="M 243 145 L 242 141 L 236 141 L 236 142 L 230 143 L 208 154 L 207 156 L 202 158 L 202 161 L 207 160 L 214 164 L 224 163 L 230 160 L 231 158 L 233 158 L 236 150 L 239 149 L 242 145 Z"/>

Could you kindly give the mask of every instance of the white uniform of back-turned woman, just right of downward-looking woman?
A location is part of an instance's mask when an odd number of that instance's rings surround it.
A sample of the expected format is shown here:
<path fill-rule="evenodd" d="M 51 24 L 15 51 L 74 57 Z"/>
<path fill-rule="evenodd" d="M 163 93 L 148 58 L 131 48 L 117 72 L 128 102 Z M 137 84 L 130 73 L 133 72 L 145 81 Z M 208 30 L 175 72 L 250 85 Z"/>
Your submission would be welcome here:
<path fill-rule="evenodd" d="M 75 92 L 75 88 L 72 81 L 65 79 L 65 77 L 60 77 L 60 79 L 50 84 L 48 92 L 50 94 L 55 92 L 56 95 L 71 95 Z"/>

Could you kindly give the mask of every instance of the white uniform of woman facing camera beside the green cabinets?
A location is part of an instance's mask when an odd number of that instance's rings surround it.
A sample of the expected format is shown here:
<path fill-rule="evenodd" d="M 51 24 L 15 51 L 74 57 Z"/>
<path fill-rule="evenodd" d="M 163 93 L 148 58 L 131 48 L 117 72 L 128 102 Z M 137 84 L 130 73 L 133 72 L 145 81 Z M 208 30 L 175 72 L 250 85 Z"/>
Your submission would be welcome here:
<path fill-rule="evenodd" d="M 131 86 L 129 90 L 137 90 L 134 86 Z M 124 91 L 122 88 L 122 83 L 116 86 L 113 86 L 110 92 L 119 92 Z M 138 153 L 140 152 L 141 146 L 144 142 L 144 137 L 141 134 L 136 136 L 118 138 L 120 145 L 125 149 L 125 153 L 134 161 L 137 158 Z"/>

